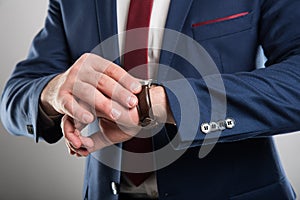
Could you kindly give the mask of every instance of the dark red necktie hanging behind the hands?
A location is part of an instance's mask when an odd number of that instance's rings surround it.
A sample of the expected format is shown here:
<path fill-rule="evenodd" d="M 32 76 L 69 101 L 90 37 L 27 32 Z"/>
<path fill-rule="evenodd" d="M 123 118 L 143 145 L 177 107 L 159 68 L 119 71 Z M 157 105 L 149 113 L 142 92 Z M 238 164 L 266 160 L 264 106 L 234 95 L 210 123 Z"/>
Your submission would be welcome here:
<path fill-rule="evenodd" d="M 150 24 L 150 16 L 152 11 L 153 0 L 131 0 L 127 19 L 127 31 L 136 28 L 145 28 L 142 31 L 133 31 L 133 34 L 126 34 L 125 52 L 132 50 L 131 47 L 138 45 L 139 48 L 124 54 L 124 68 L 129 71 L 137 66 L 134 70 L 134 76 L 141 79 L 148 79 L 148 31 Z M 133 45 L 133 46 L 131 46 Z M 146 153 L 152 151 L 152 139 L 135 137 L 127 142 L 124 142 L 123 149 L 135 153 Z M 126 162 L 124 158 L 123 162 Z M 127 161 L 128 162 L 128 161 Z M 151 174 L 148 173 L 125 173 L 127 178 L 139 186 Z"/>

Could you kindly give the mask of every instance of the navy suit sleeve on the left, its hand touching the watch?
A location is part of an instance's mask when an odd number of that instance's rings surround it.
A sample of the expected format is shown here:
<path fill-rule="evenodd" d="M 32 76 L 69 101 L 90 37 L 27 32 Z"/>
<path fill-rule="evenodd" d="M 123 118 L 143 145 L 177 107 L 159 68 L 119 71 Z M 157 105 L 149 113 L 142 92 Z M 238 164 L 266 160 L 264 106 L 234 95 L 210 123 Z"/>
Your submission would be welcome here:
<path fill-rule="evenodd" d="M 1 97 L 1 120 L 14 135 L 54 143 L 62 137 L 58 124 L 47 126 L 39 116 L 45 85 L 70 66 L 60 5 L 51 0 L 44 28 L 34 38 L 26 60 L 15 67 Z M 45 128 L 47 127 L 47 128 Z"/>

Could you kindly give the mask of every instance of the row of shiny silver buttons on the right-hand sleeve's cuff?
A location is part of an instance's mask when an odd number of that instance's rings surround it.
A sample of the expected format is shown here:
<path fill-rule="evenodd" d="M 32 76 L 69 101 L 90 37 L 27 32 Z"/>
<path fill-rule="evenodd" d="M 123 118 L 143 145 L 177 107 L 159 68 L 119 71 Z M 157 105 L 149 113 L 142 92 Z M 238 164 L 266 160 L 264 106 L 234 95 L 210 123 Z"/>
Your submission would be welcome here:
<path fill-rule="evenodd" d="M 234 119 L 227 118 L 218 122 L 203 123 L 201 125 L 201 131 L 205 134 L 208 134 L 211 132 L 223 131 L 225 129 L 232 129 L 234 126 Z"/>

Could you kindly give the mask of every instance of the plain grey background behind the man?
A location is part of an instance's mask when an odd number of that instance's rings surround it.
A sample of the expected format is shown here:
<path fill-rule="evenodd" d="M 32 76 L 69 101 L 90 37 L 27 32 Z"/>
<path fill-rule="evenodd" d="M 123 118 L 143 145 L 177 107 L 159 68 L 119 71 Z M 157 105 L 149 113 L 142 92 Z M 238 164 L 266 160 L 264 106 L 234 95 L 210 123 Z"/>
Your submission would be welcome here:
<path fill-rule="evenodd" d="M 48 0 L 0 0 L 0 93 L 41 29 Z M 283 166 L 300 195 L 300 134 L 275 137 Z M 9 135 L 0 124 L 0 199 L 81 199 L 84 159 L 54 145 Z"/>

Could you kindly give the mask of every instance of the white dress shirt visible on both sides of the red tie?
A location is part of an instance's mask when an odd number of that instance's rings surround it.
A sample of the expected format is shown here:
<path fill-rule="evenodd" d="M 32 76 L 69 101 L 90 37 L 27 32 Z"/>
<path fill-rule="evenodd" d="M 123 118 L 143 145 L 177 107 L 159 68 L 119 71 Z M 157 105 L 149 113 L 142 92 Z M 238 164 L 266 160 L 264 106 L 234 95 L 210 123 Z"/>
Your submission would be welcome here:
<path fill-rule="evenodd" d="M 142 1 L 142 0 L 141 0 Z M 154 0 L 150 18 L 150 29 L 148 35 L 148 46 L 160 47 L 163 40 L 163 29 L 166 24 L 171 0 Z M 126 31 L 127 16 L 130 0 L 117 0 L 118 33 Z M 160 31 L 159 31 L 160 30 Z M 123 55 L 125 46 L 125 34 L 119 35 L 120 55 Z M 148 49 L 148 63 L 158 63 L 160 57 L 159 49 Z M 156 79 L 158 65 L 149 65 L 149 78 Z M 144 183 L 136 187 L 124 175 L 122 177 L 120 191 L 124 193 L 145 194 L 150 198 L 158 197 L 157 182 L 153 173 Z"/>

